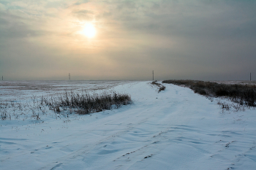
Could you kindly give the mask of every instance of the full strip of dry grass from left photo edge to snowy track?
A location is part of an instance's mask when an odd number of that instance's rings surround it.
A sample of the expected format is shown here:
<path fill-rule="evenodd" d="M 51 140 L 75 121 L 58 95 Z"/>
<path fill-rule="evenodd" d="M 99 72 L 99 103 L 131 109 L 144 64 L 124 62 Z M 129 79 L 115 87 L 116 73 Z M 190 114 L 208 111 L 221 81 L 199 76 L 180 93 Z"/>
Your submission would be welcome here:
<path fill-rule="evenodd" d="M 0 103 L 1 120 L 41 120 L 41 115 L 51 114 L 53 110 L 56 116 L 64 113 L 87 115 L 93 112 L 101 112 L 108 109 L 118 109 L 122 105 L 132 104 L 132 99 L 128 94 L 123 93 L 61 93 L 59 96 L 37 97 L 32 96 L 30 101 L 21 103 L 20 101 L 6 101 Z"/>

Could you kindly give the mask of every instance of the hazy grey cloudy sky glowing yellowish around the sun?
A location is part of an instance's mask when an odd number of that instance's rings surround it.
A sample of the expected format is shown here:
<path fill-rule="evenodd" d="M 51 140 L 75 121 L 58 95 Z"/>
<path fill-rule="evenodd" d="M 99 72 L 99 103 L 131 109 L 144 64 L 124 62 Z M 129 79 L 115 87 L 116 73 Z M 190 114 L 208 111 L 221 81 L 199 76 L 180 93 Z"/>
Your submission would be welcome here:
<path fill-rule="evenodd" d="M 256 1 L 0 0 L 4 80 L 151 80 L 152 70 L 256 79 Z"/>

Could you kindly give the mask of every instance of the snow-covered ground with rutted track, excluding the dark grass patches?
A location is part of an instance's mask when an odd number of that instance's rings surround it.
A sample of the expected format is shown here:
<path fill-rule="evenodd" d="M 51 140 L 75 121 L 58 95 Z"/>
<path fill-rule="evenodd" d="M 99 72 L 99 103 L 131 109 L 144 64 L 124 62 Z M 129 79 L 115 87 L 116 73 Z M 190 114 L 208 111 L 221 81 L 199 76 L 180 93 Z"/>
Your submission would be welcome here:
<path fill-rule="evenodd" d="M 157 93 L 150 82 L 0 82 L 0 103 L 28 108 L 65 90 L 115 90 L 133 101 L 68 117 L 34 109 L 39 119 L 10 107 L 11 120 L 0 120 L 0 169 L 256 169 L 255 109 L 223 112 L 218 98 L 165 86 Z"/>

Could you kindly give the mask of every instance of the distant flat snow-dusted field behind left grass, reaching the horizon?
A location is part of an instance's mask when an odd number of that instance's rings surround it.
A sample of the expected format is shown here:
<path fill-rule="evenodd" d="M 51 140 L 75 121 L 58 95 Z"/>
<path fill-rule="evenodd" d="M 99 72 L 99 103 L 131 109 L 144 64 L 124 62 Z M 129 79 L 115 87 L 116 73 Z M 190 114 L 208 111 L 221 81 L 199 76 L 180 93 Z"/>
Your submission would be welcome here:
<path fill-rule="evenodd" d="M 0 81 L 0 101 L 20 101 L 31 96 L 50 96 L 63 93 L 65 90 L 80 92 L 81 90 L 110 89 L 129 81 Z"/>

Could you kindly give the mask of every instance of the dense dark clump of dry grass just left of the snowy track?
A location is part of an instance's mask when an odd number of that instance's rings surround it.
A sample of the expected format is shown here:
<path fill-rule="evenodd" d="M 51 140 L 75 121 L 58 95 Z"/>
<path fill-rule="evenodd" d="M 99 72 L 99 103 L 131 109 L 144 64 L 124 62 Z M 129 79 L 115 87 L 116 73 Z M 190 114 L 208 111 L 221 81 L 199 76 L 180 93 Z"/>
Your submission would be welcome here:
<path fill-rule="evenodd" d="M 87 115 L 93 112 L 102 112 L 108 109 L 118 109 L 122 105 L 131 104 L 132 99 L 128 94 L 121 93 L 64 93 L 58 97 L 43 98 L 41 104 L 45 104 L 54 112 L 62 112 L 67 109 L 75 109 L 79 115 Z"/>

